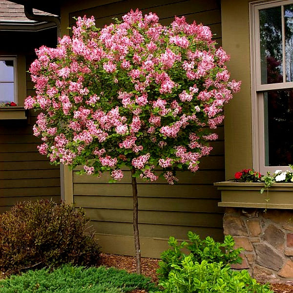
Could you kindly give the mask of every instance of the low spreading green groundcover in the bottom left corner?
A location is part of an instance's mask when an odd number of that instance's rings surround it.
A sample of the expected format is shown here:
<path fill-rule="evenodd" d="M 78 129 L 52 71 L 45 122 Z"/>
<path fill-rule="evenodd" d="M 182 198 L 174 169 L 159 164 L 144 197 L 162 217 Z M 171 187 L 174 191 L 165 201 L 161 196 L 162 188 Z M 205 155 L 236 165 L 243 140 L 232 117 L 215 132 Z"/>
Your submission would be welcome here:
<path fill-rule="evenodd" d="M 121 293 L 134 289 L 155 290 L 149 278 L 114 268 L 63 265 L 13 275 L 0 281 L 1 293 Z"/>

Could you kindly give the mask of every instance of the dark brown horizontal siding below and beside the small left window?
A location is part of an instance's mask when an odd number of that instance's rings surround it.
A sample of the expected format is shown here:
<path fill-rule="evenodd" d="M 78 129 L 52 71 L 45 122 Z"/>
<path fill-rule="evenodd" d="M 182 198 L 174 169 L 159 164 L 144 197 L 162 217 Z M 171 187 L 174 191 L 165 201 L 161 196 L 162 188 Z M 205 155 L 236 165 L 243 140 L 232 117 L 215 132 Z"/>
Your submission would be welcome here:
<path fill-rule="evenodd" d="M 31 61 L 27 58 L 27 68 Z M 34 92 L 29 75 L 26 86 Z M 60 167 L 38 152 L 42 142 L 33 136 L 35 121 L 33 111 L 27 120 L 0 120 L 0 212 L 22 201 L 60 201 Z"/>

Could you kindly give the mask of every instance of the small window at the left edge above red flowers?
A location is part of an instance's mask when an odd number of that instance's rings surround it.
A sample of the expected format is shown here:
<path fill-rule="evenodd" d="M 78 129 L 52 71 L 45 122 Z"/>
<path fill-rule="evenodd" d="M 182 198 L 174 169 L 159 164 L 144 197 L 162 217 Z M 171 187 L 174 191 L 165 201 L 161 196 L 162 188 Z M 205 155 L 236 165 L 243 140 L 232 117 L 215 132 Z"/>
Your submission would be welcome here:
<path fill-rule="evenodd" d="M 16 58 L 0 57 L 0 103 L 17 103 Z"/>

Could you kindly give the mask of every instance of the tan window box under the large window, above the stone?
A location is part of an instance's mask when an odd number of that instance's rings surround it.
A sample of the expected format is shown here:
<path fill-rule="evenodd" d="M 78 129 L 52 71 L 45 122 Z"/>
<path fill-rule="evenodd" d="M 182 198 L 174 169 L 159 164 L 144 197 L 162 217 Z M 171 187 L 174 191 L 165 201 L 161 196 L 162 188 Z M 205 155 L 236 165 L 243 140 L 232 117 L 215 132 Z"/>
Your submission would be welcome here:
<path fill-rule="evenodd" d="M 221 190 L 219 207 L 293 209 L 293 183 L 274 183 L 263 194 L 262 183 L 225 181 L 214 185 Z"/>

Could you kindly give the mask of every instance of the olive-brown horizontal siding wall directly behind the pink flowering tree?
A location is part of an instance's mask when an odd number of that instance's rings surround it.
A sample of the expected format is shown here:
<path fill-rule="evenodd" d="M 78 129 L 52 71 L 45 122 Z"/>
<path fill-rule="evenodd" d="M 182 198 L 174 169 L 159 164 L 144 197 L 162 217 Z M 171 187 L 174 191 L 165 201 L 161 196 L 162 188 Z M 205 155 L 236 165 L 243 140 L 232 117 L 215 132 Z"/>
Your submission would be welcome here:
<path fill-rule="evenodd" d="M 99 3 L 97 6 L 97 1 L 71 1 L 70 5 L 63 6 L 63 34 L 68 34 L 66 28 L 74 23 L 72 17 L 94 15 L 97 25 L 103 27 L 112 22 L 113 17 L 121 18 L 131 8 L 138 7 L 143 13 L 157 13 L 163 24 L 170 23 L 174 15 L 185 15 L 189 22 L 203 22 L 210 26 L 216 34 L 216 42 L 221 45 L 219 1 L 122 0 L 111 3 L 105 0 Z M 142 256 L 159 257 L 160 252 L 167 248 L 170 235 L 185 239 L 188 230 L 195 231 L 201 237 L 210 235 L 216 240 L 223 238 L 223 210 L 217 207 L 220 194 L 212 185 L 224 179 L 223 130 L 223 126 L 217 129 L 219 140 L 211 143 L 214 149 L 209 157 L 202 160 L 200 170 L 195 175 L 179 173 L 179 184 L 174 186 L 160 180 L 155 184 L 138 181 Z M 65 175 L 70 177 L 70 171 L 65 171 Z M 84 208 L 97 231 L 103 251 L 131 255 L 134 248 L 130 171 L 126 171 L 124 179 L 119 183 L 108 184 L 109 179 L 108 174 L 97 179 L 78 175 L 75 170 L 73 195 L 69 190 L 65 198 L 73 201 L 76 207 Z"/>

